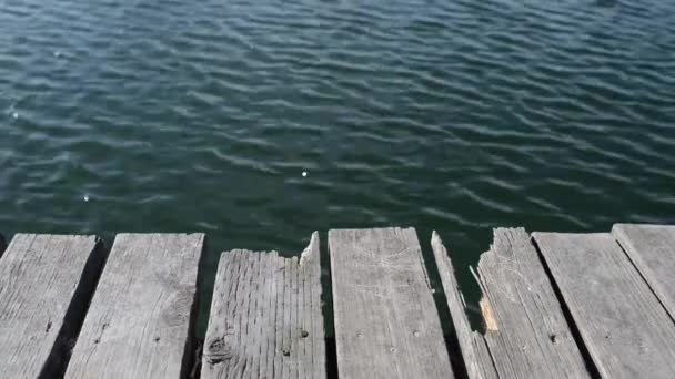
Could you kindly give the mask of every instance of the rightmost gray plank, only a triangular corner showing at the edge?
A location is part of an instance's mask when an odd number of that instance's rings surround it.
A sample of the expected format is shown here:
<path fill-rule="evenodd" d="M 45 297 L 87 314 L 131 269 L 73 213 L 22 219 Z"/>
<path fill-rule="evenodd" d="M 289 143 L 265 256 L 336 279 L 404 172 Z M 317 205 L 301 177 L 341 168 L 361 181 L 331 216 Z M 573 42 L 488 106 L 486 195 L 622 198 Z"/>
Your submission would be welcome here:
<path fill-rule="evenodd" d="M 675 319 L 675 226 L 616 224 L 612 234 Z"/>

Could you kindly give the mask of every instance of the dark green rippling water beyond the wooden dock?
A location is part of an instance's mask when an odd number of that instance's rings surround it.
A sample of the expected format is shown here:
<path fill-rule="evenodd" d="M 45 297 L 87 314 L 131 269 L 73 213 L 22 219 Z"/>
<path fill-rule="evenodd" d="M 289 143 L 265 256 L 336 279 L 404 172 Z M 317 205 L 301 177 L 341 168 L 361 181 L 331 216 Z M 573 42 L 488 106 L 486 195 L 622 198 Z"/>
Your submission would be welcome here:
<path fill-rule="evenodd" d="M 6 236 L 203 231 L 212 280 L 314 229 L 465 267 L 614 222 L 675 222 L 675 1 L 0 3 Z"/>

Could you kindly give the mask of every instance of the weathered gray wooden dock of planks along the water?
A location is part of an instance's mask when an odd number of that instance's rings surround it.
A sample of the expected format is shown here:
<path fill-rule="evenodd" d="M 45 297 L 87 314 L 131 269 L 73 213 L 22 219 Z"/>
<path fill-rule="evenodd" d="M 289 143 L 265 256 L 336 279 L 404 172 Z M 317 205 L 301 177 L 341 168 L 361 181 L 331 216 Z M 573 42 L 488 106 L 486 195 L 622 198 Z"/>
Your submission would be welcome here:
<path fill-rule="evenodd" d="M 675 378 L 675 226 L 496 228 L 472 269 L 476 330 L 455 277 L 469 267 L 435 232 L 426 260 L 413 228 L 329 231 L 330 262 L 319 233 L 291 258 L 225 252 L 201 346 L 204 240 L 14 235 L 0 246 L 0 378 Z"/>

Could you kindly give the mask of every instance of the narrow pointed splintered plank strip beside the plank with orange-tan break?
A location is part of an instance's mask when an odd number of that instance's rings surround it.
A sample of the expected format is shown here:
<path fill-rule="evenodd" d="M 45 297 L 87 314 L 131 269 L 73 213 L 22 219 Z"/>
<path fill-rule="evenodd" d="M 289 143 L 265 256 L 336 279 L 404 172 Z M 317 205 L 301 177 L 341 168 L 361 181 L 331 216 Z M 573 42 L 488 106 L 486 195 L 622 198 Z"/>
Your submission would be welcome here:
<path fill-rule="evenodd" d="M 471 329 L 452 262 L 436 232 L 432 234 L 431 247 L 441 275 L 441 284 L 447 299 L 450 316 L 457 335 L 469 379 L 498 378 L 483 335 Z"/>

